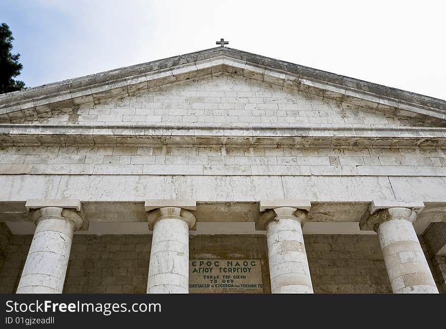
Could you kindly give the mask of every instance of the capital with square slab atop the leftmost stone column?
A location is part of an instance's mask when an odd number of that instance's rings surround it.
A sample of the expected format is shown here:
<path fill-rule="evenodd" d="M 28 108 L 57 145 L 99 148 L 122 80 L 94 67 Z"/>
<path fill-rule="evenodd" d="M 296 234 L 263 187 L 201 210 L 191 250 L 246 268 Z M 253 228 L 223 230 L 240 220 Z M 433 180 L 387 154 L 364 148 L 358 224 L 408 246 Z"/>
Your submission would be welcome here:
<path fill-rule="evenodd" d="M 82 204 L 75 199 L 31 199 L 25 203 L 31 220 L 37 222 L 47 217 L 60 217 L 75 224 L 76 230 L 88 230 L 88 222 L 84 220 Z"/>

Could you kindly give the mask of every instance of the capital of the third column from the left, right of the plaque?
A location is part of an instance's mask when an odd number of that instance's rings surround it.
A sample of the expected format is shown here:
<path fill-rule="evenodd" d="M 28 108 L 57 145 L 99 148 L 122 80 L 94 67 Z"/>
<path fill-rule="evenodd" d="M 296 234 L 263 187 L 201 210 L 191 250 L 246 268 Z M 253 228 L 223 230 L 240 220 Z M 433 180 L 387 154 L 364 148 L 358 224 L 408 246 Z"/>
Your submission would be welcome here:
<path fill-rule="evenodd" d="M 262 200 L 260 210 L 263 213 L 255 222 L 255 229 L 265 231 L 269 222 L 281 218 L 293 219 L 303 226 L 310 207 L 308 200 Z"/>

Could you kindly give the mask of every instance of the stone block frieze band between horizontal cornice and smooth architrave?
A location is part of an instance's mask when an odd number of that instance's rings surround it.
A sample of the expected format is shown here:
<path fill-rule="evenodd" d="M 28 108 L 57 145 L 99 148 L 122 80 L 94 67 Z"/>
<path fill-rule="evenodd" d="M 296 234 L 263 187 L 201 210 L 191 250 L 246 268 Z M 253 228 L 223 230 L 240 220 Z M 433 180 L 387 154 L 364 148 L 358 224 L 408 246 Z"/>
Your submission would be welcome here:
<path fill-rule="evenodd" d="M 3 147 L 0 174 L 446 176 L 446 149 L 331 147 Z"/>

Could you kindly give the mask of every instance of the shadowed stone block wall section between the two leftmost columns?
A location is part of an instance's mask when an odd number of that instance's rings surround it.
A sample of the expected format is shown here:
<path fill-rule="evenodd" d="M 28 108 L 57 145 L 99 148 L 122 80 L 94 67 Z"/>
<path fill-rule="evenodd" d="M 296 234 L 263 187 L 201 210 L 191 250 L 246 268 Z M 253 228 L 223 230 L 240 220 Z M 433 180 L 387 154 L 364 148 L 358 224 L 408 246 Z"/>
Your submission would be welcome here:
<path fill-rule="evenodd" d="M 145 293 L 152 235 L 75 235 L 64 293 Z"/>

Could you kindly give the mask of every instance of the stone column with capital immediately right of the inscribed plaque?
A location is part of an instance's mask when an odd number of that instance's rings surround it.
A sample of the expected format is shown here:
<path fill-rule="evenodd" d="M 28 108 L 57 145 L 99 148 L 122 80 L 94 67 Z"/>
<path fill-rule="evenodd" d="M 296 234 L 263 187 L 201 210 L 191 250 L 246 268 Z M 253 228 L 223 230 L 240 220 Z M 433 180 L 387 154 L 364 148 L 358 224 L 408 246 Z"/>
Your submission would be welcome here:
<path fill-rule="evenodd" d="M 293 207 L 292 207 L 293 206 Z M 309 201 L 261 201 L 257 229 L 267 231 L 271 292 L 313 294 L 302 226 Z"/>

